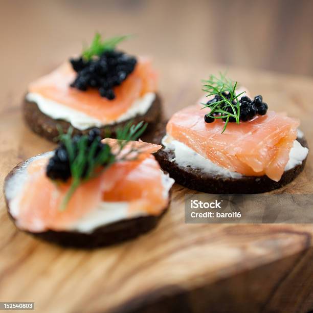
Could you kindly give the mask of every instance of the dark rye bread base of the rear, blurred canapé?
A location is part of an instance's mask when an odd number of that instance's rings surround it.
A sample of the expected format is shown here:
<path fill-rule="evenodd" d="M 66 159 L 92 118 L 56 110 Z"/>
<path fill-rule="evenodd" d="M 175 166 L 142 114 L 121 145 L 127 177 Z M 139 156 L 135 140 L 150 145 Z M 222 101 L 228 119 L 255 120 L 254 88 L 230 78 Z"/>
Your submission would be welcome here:
<path fill-rule="evenodd" d="M 23 115 L 27 125 L 38 135 L 53 141 L 58 135 L 59 131 L 57 129 L 57 125 L 60 125 L 63 132 L 66 132 L 68 128 L 71 126 L 69 122 L 64 120 L 55 120 L 49 117 L 46 114 L 43 114 L 37 104 L 35 102 L 30 102 L 28 100 L 24 100 L 23 103 Z M 144 115 L 137 115 L 135 118 L 126 120 L 124 122 L 115 123 L 112 125 L 107 125 L 99 128 L 101 130 L 101 136 L 107 137 L 107 131 L 110 131 L 110 137 L 116 136 L 116 130 L 119 127 L 123 127 L 129 121 L 133 121 L 134 124 L 137 124 L 141 121 L 147 122 L 148 127 L 145 132 L 149 132 L 155 127 L 162 118 L 162 105 L 160 96 L 157 95 L 155 100 L 151 104 L 150 108 L 148 109 L 147 113 Z M 94 128 L 94 127 L 91 127 Z M 73 128 L 74 135 L 76 134 L 86 134 L 90 131 L 91 128 L 85 130 L 79 130 L 77 128 Z"/>

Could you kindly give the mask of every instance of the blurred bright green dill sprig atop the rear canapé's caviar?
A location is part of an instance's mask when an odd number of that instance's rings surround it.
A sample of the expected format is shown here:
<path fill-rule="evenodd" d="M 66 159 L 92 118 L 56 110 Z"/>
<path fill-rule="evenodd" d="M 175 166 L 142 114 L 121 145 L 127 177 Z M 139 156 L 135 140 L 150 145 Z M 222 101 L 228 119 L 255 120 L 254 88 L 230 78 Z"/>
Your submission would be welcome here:
<path fill-rule="evenodd" d="M 86 61 L 89 61 L 94 56 L 100 56 L 104 51 L 114 50 L 117 44 L 129 37 L 130 35 L 122 35 L 102 40 L 101 35 L 97 32 L 90 47 L 85 47 L 83 49 L 82 57 Z"/>

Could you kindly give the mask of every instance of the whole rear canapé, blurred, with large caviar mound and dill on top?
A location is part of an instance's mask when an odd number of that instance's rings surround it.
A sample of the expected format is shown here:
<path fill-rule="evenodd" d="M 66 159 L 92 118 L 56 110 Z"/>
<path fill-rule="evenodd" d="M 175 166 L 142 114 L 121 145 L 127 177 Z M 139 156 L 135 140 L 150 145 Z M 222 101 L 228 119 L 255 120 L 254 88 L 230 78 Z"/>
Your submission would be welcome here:
<path fill-rule="evenodd" d="M 75 134 L 100 129 L 104 138 L 130 120 L 147 122 L 161 116 L 158 75 L 147 57 L 116 49 L 127 36 L 103 40 L 97 33 L 91 46 L 52 73 L 28 86 L 23 112 L 28 126 L 49 140 L 72 126 Z"/>

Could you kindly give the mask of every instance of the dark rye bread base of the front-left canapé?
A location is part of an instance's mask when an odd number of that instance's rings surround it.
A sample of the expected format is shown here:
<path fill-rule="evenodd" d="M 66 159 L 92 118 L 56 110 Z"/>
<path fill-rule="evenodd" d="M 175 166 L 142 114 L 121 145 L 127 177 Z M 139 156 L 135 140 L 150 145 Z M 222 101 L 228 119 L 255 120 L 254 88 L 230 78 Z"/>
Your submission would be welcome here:
<path fill-rule="evenodd" d="M 26 161 L 17 164 L 6 176 L 4 183 L 4 195 L 6 199 L 8 214 L 11 220 L 14 222 L 15 226 L 16 220 L 10 213 L 10 203 L 7 198 L 6 187 L 9 178 L 12 177 L 20 169 L 20 167 L 25 164 L 25 162 Z M 25 230 L 23 231 L 37 238 L 57 243 L 59 245 L 62 245 L 63 247 L 93 249 L 117 244 L 149 232 L 158 225 L 158 222 L 167 211 L 167 208 L 165 208 L 158 216 L 147 215 L 136 218 L 123 219 L 117 222 L 110 223 L 108 225 L 98 227 L 91 233 L 53 230 L 40 233 L 33 233 Z"/>

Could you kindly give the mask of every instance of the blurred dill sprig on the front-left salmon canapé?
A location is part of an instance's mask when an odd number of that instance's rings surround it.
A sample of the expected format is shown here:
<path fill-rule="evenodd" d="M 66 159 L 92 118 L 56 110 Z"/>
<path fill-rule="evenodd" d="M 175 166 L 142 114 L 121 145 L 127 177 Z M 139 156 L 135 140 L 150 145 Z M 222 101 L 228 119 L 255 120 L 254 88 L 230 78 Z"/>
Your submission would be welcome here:
<path fill-rule="evenodd" d="M 131 147 L 129 151 L 121 156 L 123 148 L 128 142 L 137 140 L 145 131 L 147 123 L 143 121 L 137 125 L 132 122 L 127 123 L 124 127 L 118 128 L 116 131 L 117 147 L 112 149 L 109 145 L 104 144 L 100 152 L 97 153 L 99 139 L 95 138 L 94 141 L 88 146 L 88 136 L 80 136 L 74 143 L 72 138 L 73 128 L 70 127 L 67 133 L 63 133 L 59 129 L 59 140 L 63 143 L 69 155 L 69 164 L 72 176 L 71 186 L 66 192 L 60 210 L 63 211 L 69 203 L 75 190 L 81 183 L 97 177 L 103 170 L 107 169 L 110 165 L 129 160 L 129 155 L 133 152 L 140 152 L 138 149 Z M 115 147 L 114 147 L 115 148 Z M 114 152 L 113 152 L 114 151 Z M 136 159 L 133 157 L 131 160 Z"/>

